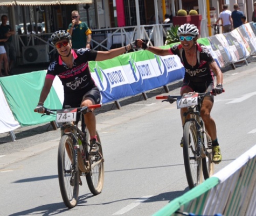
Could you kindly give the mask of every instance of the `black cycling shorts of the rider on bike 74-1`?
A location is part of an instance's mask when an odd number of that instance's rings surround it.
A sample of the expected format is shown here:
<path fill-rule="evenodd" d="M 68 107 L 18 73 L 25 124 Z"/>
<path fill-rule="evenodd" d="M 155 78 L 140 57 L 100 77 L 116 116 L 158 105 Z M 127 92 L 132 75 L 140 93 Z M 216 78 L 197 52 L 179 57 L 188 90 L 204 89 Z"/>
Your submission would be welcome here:
<path fill-rule="evenodd" d="M 90 91 L 79 92 L 79 93 L 73 93 L 73 94 L 66 94 L 64 96 L 64 102 L 63 102 L 63 108 L 66 105 L 69 105 L 71 107 L 80 107 L 82 100 L 84 98 L 91 98 L 95 104 L 100 104 L 101 96 L 100 96 L 100 90 L 98 87 L 92 88 Z"/>

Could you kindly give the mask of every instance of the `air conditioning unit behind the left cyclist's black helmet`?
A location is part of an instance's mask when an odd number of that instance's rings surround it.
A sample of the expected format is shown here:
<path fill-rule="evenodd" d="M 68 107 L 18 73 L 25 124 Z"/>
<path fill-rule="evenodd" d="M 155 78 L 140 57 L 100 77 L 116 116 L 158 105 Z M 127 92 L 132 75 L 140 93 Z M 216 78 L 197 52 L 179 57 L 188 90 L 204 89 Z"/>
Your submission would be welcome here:
<path fill-rule="evenodd" d="M 48 45 L 37 45 L 37 46 L 27 46 L 22 47 L 23 63 L 43 63 L 49 62 L 49 51 Z"/>

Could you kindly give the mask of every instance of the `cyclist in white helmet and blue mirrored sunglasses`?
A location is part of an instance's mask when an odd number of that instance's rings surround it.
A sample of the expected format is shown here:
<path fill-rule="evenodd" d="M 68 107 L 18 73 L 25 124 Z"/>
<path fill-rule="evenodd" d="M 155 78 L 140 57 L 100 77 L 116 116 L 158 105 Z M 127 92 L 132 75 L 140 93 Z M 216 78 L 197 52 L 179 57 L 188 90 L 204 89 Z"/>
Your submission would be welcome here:
<path fill-rule="evenodd" d="M 217 95 L 223 91 L 223 74 L 209 50 L 204 45 L 197 43 L 198 32 L 198 28 L 195 25 L 184 24 L 180 26 L 177 34 L 181 44 L 174 45 L 170 49 L 148 46 L 143 40 L 136 40 L 135 45 L 156 55 L 178 55 L 185 68 L 181 95 L 193 91 L 203 93 L 211 90 Z M 216 88 L 214 88 L 213 73 L 216 75 Z M 204 120 L 205 128 L 212 139 L 213 162 L 219 163 L 222 161 L 222 154 L 217 139 L 216 124 L 210 116 L 212 106 L 213 96 L 206 96 L 203 100 L 201 116 Z M 185 109 L 181 109 L 181 116 Z M 183 146 L 182 142 L 181 146 Z"/>

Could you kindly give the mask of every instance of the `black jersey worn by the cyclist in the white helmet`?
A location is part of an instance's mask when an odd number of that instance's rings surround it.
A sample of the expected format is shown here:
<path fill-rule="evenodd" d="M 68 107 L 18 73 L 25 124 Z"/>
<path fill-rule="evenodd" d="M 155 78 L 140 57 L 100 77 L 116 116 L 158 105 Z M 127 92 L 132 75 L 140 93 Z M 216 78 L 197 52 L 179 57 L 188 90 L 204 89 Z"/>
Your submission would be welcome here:
<path fill-rule="evenodd" d="M 179 59 L 185 68 L 184 80 L 190 82 L 206 82 L 213 81 L 214 75 L 209 64 L 215 61 L 209 51 L 204 45 L 196 44 L 197 46 L 197 63 L 195 66 L 191 66 L 188 61 L 186 61 L 185 52 L 181 44 L 174 45 L 170 48 L 172 54 L 178 55 Z"/>

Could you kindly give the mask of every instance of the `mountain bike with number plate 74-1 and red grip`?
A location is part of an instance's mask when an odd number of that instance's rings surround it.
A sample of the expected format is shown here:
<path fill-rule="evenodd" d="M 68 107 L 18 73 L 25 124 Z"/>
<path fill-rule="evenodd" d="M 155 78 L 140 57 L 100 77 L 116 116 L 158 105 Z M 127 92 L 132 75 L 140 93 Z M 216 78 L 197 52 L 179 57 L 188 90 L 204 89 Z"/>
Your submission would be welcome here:
<path fill-rule="evenodd" d="M 99 153 L 89 154 L 88 129 L 79 129 L 76 122 L 77 114 L 92 112 L 91 109 L 100 107 L 100 104 L 67 109 L 47 109 L 44 115 L 56 115 L 56 122 L 61 123 L 61 139 L 58 147 L 58 178 L 61 196 L 68 208 L 73 208 L 78 202 L 79 185 L 82 185 L 81 176 L 86 177 L 87 185 L 93 195 L 101 193 L 104 181 L 104 159 L 102 145 Z M 36 112 L 36 110 L 34 110 Z M 96 132 L 98 141 L 100 136 Z"/>

